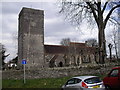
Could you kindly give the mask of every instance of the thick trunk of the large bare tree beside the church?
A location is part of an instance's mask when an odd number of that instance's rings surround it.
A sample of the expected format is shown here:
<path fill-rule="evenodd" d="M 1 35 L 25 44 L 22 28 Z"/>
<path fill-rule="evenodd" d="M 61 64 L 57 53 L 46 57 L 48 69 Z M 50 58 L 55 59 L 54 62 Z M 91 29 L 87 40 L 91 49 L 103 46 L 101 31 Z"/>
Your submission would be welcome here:
<path fill-rule="evenodd" d="M 101 2 L 98 3 L 98 42 L 99 42 L 99 63 L 104 64 L 106 58 L 106 41 L 105 41 L 105 23 L 101 10 Z"/>

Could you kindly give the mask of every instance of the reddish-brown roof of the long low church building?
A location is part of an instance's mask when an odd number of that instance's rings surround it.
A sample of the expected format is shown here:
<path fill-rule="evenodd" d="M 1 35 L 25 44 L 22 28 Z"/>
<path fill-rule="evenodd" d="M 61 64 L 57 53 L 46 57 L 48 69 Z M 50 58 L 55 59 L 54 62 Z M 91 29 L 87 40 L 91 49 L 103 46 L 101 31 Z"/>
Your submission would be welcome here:
<path fill-rule="evenodd" d="M 73 53 L 76 49 L 76 53 L 88 52 L 94 53 L 94 47 L 87 47 L 85 43 L 74 43 L 71 42 L 70 46 L 62 45 L 44 45 L 45 54 L 66 54 L 68 52 Z"/>

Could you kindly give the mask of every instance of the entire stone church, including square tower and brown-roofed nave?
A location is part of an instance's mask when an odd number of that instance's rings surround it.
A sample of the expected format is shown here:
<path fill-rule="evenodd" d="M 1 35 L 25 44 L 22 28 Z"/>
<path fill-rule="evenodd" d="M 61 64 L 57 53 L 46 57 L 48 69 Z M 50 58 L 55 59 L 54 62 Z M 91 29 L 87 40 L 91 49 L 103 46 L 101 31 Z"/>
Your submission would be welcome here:
<path fill-rule="evenodd" d="M 28 69 L 79 66 L 97 63 L 98 52 L 87 42 L 70 42 L 68 46 L 44 45 L 44 11 L 24 7 L 19 13 L 19 66 L 22 66 L 23 59 L 27 61 Z"/>

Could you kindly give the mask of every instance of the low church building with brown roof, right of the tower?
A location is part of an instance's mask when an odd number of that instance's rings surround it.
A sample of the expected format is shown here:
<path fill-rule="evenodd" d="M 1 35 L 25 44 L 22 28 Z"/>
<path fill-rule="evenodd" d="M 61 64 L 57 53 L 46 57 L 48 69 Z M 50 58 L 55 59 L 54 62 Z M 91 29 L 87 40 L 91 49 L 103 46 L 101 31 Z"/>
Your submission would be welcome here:
<path fill-rule="evenodd" d="M 73 43 L 73 42 L 71 42 Z M 73 43 L 69 46 L 44 45 L 45 61 L 49 67 L 80 66 L 84 63 L 98 62 L 95 47 L 87 47 L 85 43 Z"/>

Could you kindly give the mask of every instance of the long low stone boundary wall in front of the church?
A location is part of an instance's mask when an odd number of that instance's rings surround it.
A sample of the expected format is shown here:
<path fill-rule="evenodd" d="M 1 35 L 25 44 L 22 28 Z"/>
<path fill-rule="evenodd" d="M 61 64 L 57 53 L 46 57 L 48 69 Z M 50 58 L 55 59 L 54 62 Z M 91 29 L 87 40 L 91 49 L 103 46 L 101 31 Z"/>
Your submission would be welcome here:
<path fill-rule="evenodd" d="M 57 67 L 57 68 L 44 68 L 39 70 L 27 70 L 26 78 L 58 78 L 66 76 L 78 76 L 78 75 L 105 75 L 113 67 L 120 66 L 118 64 L 109 65 L 82 65 L 79 67 Z M 106 68 L 107 67 L 107 68 Z M 22 70 L 9 70 L 2 72 L 3 79 L 23 79 Z"/>

